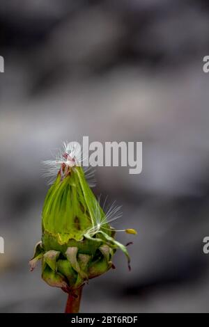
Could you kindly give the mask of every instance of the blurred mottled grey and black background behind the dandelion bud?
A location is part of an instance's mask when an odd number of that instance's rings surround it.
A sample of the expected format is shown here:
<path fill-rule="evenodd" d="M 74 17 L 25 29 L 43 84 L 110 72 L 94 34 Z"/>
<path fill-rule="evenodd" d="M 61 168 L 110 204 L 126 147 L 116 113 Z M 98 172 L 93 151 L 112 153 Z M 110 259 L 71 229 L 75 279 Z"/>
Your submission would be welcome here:
<path fill-rule="evenodd" d="M 143 141 L 143 173 L 98 168 L 95 193 L 136 228 L 115 271 L 91 280 L 82 312 L 208 312 L 208 1 L 1 0 L 0 312 L 63 312 L 29 273 L 48 186 L 41 161 L 62 141 Z M 118 234 L 126 243 L 129 235 Z"/>

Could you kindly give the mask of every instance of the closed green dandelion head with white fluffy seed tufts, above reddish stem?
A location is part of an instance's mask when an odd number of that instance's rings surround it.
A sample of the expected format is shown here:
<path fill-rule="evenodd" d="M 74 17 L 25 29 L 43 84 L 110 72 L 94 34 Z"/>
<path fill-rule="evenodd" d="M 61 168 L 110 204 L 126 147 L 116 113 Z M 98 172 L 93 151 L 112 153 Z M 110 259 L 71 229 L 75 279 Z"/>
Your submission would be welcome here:
<path fill-rule="evenodd" d="M 113 268 L 117 248 L 130 257 L 127 248 L 114 239 L 118 207 L 104 213 L 86 181 L 74 151 L 65 145 L 63 158 L 47 162 L 59 171 L 42 209 L 42 241 L 36 245 L 31 270 L 42 260 L 42 279 L 65 292 L 75 292 L 88 279 Z M 132 229 L 124 230 L 136 234 Z"/>

